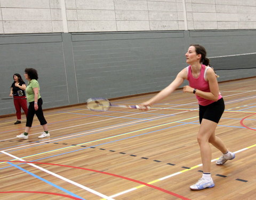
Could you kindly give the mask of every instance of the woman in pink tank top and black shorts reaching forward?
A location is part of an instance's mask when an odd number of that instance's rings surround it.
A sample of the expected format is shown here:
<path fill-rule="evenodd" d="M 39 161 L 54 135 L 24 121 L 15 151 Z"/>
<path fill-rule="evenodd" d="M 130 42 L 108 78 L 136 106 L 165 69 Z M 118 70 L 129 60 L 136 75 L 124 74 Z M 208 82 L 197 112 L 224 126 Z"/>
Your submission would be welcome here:
<path fill-rule="evenodd" d="M 139 106 L 140 110 L 148 110 L 148 107 L 169 96 L 185 79 L 188 80 L 189 85 L 183 87 L 183 92 L 195 95 L 198 101 L 200 127 L 197 133 L 197 141 L 203 163 L 202 178 L 190 186 L 190 189 L 202 190 L 214 187 L 211 178 L 210 143 L 222 153 L 222 156 L 216 162 L 217 165 L 222 165 L 229 159 L 234 159 L 235 154 L 229 151 L 222 140 L 215 135 L 215 129 L 225 109 L 225 104 L 219 92 L 217 75 L 211 67 L 208 67 L 210 61 L 206 58 L 204 47 L 198 44 L 190 45 L 185 55 L 189 66 L 182 69 L 169 86 Z"/>

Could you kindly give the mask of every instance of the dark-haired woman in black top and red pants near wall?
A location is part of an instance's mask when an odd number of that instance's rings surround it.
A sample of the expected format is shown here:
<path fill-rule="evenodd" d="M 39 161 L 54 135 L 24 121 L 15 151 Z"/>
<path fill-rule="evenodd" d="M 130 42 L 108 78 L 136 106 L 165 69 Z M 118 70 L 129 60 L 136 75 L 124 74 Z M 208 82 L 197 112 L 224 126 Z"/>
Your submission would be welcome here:
<path fill-rule="evenodd" d="M 26 84 L 22 80 L 20 74 L 13 75 L 14 82 L 11 85 L 10 97 L 13 97 L 13 102 L 16 110 L 17 121 L 14 124 L 21 123 L 21 108 L 28 114 L 27 100 L 25 95 Z"/>

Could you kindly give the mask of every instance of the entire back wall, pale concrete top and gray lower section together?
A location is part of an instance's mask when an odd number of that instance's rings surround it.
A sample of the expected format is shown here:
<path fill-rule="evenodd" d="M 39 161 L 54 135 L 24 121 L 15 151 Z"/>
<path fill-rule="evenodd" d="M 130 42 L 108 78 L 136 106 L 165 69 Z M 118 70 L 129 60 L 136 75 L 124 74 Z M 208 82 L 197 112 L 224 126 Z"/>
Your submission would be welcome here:
<path fill-rule="evenodd" d="M 191 43 L 219 81 L 256 76 L 255 16 L 256 0 L 0 0 L 0 98 L 27 67 L 44 108 L 159 91 Z M 12 113 L 1 100 L 0 116 Z"/>

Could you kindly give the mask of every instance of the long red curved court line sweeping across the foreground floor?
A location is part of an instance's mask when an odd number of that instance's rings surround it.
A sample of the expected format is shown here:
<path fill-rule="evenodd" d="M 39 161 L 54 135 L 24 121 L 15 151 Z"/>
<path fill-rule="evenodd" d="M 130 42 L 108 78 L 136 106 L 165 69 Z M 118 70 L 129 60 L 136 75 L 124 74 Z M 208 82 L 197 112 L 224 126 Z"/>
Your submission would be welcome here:
<path fill-rule="evenodd" d="M 53 164 L 53 163 L 39 163 L 39 162 L 28 162 L 28 161 L 0 161 L 0 162 L 16 162 L 16 163 L 33 163 L 33 164 L 45 164 L 45 165 L 55 165 L 55 166 L 63 166 L 63 167 L 70 167 L 70 168 L 75 168 L 75 169 L 80 169 L 80 170 L 87 170 L 87 171 L 91 171 L 91 172 L 97 172 L 97 173 L 102 173 L 102 174 L 107 174 L 107 175 L 111 175 L 113 177 L 118 177 L 118 178 L 121 178 L 121 179 L 126 179 L 126 180 L 129 180 L 129 181 L 133 181 L 133 182 L 136 182 L 136 183 L 139 183 L 141 185 L 145 185 L 145 186 L 148 186 L 148 187 L 151 187 L 151 188 L 154 188 L 154 189 L 157 189 L 159 191 L 163 191 L 164 193 L 167 193 L 167 194 L 170 194 L 172 196 L 175 196 L 175 197 L 178 197 L 178 198 L 181 198 L 183 200 L 191 200 L 189 198 L 186 198 L 186 197 L 183 197 L 179 194 L 175 194 L 169 190 L 166 190 L 166 189 L 163 189 L 163 188 L 159 188 L 157 186 L 153 186 L 153 185 L 150 185 L 146 182 L 142 182 L 142 181 L 139 181 L 139 180 L 135 180 L 135 179 L 131 179 L 131 178 L 128 178 L 128 177 L 123 177 L 122 175 L 117 175 L 117 174 L 113 174 L 113 173 L 108 173 L 108 172 L 101 172 L 101 171 L 97 171 L 97 170 L 92 170 L 92 169 L 87 169 L 87 168 L 84 168 L 84 167 L 77 167 L 77 166 L 70 166 L 70 165 L 61 165 L 61 164 Z"/>

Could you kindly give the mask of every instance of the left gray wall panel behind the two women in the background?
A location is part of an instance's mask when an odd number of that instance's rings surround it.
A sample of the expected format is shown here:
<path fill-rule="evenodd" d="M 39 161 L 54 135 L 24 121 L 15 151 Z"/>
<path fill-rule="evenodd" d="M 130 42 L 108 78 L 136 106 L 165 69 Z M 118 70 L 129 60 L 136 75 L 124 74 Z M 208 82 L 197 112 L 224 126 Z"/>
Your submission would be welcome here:
<path fill-rule="evenodd" d="M 44 108 L 68 105 L 61 34 L 11 35 L 0 37 L 0 41 L 3 38 L 4 42 L 0 42 L 1 84 L 4 86 L 1 97 L 9 96 L 14 73 L 23 78 L 25 68 L 35 68 Z M 37 43 L 35 38 L 38 38 Z M 0 106 L 0 115 L 15 113 L 12 101 L 2 100 Z"/>

